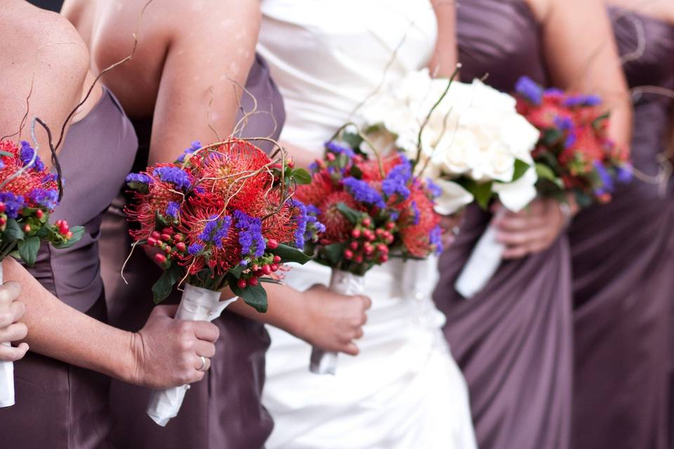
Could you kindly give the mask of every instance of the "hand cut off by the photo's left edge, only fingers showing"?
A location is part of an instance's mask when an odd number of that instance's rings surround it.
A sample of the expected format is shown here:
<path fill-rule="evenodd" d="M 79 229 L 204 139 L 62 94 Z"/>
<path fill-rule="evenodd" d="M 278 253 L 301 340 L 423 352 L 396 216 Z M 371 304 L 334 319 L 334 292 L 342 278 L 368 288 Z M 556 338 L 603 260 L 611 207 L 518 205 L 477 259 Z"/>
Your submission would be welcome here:
<path fill-rule="evenodd" d="M 17 342 L 25 339 L 28 328 L 19 320 L 26 311 L 25 304 L 18 300 L 21 285 L 18 282 L 7 282 L 0 286 L 0 342 Z M 27 343 L 18 347 L 0 345 L 0 361 L 17 361 L 25 356 Z"/>

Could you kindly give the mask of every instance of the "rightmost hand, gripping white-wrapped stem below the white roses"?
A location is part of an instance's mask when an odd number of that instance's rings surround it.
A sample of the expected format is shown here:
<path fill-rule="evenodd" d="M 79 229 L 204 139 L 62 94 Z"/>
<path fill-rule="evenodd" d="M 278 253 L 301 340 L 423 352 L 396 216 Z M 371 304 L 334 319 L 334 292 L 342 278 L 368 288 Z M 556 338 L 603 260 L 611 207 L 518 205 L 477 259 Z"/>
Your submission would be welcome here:
<path fill-rule="evenodd" d="M 566 227 L 570 212 L 567 207 L 551 198 L 537 198 L 529 206 L 513 213 L 496 206 L 496 241 L 505 245 L 504 259 L 520 259 L 527 254 L 550 248 Z"/>

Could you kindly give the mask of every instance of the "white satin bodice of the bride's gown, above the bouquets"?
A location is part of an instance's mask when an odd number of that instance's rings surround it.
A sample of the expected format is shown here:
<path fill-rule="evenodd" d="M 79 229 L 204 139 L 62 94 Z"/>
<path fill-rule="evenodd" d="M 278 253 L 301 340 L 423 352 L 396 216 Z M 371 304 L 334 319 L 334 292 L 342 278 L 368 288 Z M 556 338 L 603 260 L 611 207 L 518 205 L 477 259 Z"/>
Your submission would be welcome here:
<path fill-rule="evenodd" d="M 263 0 L 258 52 L 283 95 L 281 140 L 323 142 L 384 82 L 428 65 L 437 39 L 429 0 Z"/>

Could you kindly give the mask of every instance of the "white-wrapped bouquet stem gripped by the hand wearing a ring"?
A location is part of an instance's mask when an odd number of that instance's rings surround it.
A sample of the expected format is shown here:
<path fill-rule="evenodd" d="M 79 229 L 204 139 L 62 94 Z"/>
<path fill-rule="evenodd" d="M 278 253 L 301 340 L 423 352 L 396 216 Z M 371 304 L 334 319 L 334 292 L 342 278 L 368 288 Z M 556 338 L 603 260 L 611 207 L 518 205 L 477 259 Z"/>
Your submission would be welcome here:
<path fill-rule="evenodd" d="M 213 321 L 223 313 L 225 307 L 237 300 L 220 301 L 220 292 L 206 288 L 185 285 L 183 297 L 180 300 L 176 319 L 190 321 Z M 189 385 L 173 387 L 164 390 L 152 391 L 150 403 L 147 405 L 147 415 L 161 427 L 166 426 L 171 418 L 178 416 L 180 406 L 183 405 L 185 392 Z"/>

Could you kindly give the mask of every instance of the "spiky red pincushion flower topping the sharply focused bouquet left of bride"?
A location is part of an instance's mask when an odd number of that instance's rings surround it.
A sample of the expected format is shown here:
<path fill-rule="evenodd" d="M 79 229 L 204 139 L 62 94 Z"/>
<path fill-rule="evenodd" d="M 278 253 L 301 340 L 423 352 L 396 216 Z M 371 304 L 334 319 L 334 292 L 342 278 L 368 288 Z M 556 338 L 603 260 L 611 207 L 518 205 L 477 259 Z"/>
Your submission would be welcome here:
<path fill-rule="evenodd" d="M 269 156 L 244 140 L 204 149 L 196 157 L 199 186 L 246 213 L 256 203 L 258 193 L 272 182 L 270 171 L 263 169 L 271 162 Z"/>

